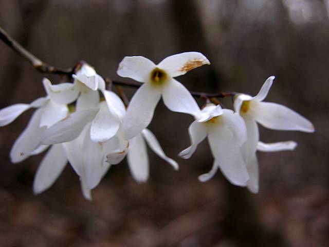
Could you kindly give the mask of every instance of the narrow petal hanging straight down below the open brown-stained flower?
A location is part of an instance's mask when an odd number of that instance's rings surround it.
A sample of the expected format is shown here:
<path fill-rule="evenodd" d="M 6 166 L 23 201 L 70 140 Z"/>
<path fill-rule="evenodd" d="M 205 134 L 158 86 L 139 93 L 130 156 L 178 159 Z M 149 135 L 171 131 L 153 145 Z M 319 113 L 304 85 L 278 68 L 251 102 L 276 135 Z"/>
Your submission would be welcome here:
<path fill-rule="evenodd" d="M 127 161 L 136 182 L 146 182 L 149 178 L 149 157 L 141 134 L 130 140 Z"/>

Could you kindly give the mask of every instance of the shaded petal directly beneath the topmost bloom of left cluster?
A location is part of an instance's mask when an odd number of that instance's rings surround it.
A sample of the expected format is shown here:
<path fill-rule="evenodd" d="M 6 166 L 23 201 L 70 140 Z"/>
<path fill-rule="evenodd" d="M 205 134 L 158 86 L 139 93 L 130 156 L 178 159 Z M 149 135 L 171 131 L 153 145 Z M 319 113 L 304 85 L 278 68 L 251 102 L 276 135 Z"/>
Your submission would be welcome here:
<path fill-rule="evenodd" d="M 98 91 L 90 90 L 85 85 L 81 85 L 81 94 L 77 100 L 77 111 L 95 108 L 99 104 L 99 93 Z"/>

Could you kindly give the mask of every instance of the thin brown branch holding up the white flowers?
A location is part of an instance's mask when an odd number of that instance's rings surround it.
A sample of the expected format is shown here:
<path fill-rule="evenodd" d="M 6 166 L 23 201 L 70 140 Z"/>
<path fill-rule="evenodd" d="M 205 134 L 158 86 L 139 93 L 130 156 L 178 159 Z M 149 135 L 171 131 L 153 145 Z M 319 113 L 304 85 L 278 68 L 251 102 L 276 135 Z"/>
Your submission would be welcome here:
<path fill-rule="evenodd" d="M 57 75 L 67 75 L 69 77 L 72 76 L 72 74 L 75 73 L 76 67 L 81 64 L 78 63 L 78 65 L 72 67 L 72 68 L 56 68 L 54 66 L 51 66 L 39 58 L 35 57 L 31 52 L 29 52 L 27 49 L 25 49 L 23 46 L 21 46 L 18 42 L 16 42 L 12 37 L 9 36 L 9 34 L 0 27 L 0 39 L 7 44 L 11 49 L 13 49 L 18 55 L 20 55 L 23 59 L 28 61 L 36 70 L 38 70 L 41 73 L 44 74 L 57 74 Z M 130 87 L 140 87 L 142 83 L 139 82 L 128 82 L 128 81 L 114 81 L 109 78 L 103 77 L 105 82 L 111 81 L 113 84 L 116 85 L 122 85 L 122 86 L 130 86 Z M 122 90 L 121 90 L 122 91 Z M 236 93 L 235 92 L 229 92 L 229 93 L 215 93 L 215 94 L 209 94 L 209 93 L 203 93 L 203 92 L 190 92 L 192 96 L 194 97 L 200 97 L 200 98 L 224 98 L 224 97 L 233 97 Z"/>

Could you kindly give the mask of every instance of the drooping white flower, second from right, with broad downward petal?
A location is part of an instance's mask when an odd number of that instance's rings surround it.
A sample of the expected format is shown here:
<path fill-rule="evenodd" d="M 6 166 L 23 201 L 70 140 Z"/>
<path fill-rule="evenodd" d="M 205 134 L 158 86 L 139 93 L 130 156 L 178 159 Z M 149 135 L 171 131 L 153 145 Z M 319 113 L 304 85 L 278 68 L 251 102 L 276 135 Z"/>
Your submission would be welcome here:
<path fill-rule="evenodd" d="M 208 104 L 202 111 L 209 112 L 214 108 L 214 104 Z M 208 173 L 200 175 L 200 181 L 211 179 L 219 168 L 232 184 L 246 186 L 249 175 L 241 147 L 246 142 L 247 136 L 245 123 L 239 114 L 223 109 L 221 115 L 217 115 L 207 122 L 195 120 L 189 127 L 189 135 L 191 146 L 181 151 L 179 156 L 191 157 L 197 145 L 207 136 L 214 156 L 212 169 Z"/>

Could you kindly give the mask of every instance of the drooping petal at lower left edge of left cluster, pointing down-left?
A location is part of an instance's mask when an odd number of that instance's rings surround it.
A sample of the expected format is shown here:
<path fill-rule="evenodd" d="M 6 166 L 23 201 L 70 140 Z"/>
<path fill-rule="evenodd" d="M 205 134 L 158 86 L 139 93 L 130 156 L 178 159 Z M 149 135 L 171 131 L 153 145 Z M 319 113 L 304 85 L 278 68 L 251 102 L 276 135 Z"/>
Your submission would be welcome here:
<path fill-rule="evenodd" d="M 10 159 L 12 163 L 25 160 L 25 158 L 30 156 L 30 153 L 41 144 L 41 135 L 46 129 L 46 127 L 39 127 L 41 114 L 42 109 L 36 110 L 25 130 L 19 138 L 15 140 L 10 150 Z"/>

